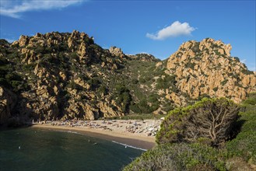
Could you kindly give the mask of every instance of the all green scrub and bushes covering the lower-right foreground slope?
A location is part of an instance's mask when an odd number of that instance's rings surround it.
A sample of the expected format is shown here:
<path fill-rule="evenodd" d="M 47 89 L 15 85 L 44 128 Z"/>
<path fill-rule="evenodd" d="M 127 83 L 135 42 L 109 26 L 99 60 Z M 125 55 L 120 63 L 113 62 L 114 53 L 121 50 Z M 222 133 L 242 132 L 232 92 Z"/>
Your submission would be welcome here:
<path fill-rule="evenodd" d="M 219 146 L 216 146 L 216 141 L 212 141 L 209 133 L 206 132 L 205 134 L 199 134 L 200 136 L 193 138 L 192 141 L 182 141 L 184 136 L 189 135 L 188 130 L 193 120 L 188 119 L 181 123 L 174 121 L 174 124 L 169 124 L 169 127 L 167 127 L 167 122 L 170 119 L 176 118 L 176 120 L 179 120 L 178 118 L 180 118 L 183 120 L 184 117 L 190 116 L 188 108 L 189 110 L 198 108 L 203 110 L 205 103 L 211 102 L 214 104 L 216 101 L 221 102 L 223 106 L 227 106 L 226 103 L 232 103 L 225 99 L 203 99 L 202 102 L 194 106 L 181 109 L 186 112 L 179 113 L 178 116 L 177 110 L 171 111 L 166 117 L 166 121 L 161 125 L 161 130 L 156 138 L 159 145 L 143 153 L 131 164 L 124 167 L 123 170 L 255 170 L 256 93 L 251 93 L 240 105 L 239 118 L 235 122 L 224 121 L 226 124 L 221 126 L 225 128 L 224 130 L 226 130 L 226 125 L 233 127 L 233 129 L 225 131 L 226 138 L 216 137 L 217 142 L 222 142 Z M 232 103 L 228 106 L 233 105 L 235 104 Z M 218 108 L 215 108 L 212 112 L 218 110 Z M 237 109 L 237 106 L 235 108 Z M 179 109 L 179 112 L 181 110 Z M 209 119 L 207 113 L 205 113 L 205 120 L 207 120 L 206 118 Z M 224 113 L 226 113 L 225 110 L 223 110 L 222 116 L 224 116 Z M 237 116 L 237 113 L 233 113 L 233 115 Z M 213 117 L 212 120 L 214 120 Z M 199 118 L 197 120 L 199 131 L 202 131 L 200 128 L 203 126 L 202 123 L 204 123 L 204 120 Z M 181 127 L 181 130 L 177 132 L 177 126 L 175 125 Z M 184 130 L 185 127 L 188 129 Z M 163 141 L 163 138 L 165 141 Z"/>

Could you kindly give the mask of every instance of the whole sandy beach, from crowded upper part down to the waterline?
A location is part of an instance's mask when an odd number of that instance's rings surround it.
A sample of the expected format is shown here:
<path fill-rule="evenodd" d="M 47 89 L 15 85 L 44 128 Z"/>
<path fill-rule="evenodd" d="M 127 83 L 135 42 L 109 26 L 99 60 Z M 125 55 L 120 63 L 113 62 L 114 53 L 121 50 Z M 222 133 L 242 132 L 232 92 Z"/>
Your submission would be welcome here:
<path fill-rule="evenodd" d="M 155 135 L 160 123 L 161 120 L 73 120 L 42 121 L 33 123 L 32 127 L 75 131 L 136 148 L 150 149 L 155 146 Z"/>

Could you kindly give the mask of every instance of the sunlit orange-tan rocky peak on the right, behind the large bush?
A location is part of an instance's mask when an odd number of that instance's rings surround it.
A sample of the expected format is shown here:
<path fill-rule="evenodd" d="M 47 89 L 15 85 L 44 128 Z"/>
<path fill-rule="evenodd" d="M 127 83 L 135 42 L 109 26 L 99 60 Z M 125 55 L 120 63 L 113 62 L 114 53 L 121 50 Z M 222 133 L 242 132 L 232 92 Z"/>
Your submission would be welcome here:
<path fill-rule="evenodd" d="M 177 88 L 192 99 L 208 95 L 240 103 L 256 91 L 256 77 L 239 58 L 230 57 L 230 44 L 220 40 L 188 41 L 170 56 L 167 68 L 177 75 Z"/>

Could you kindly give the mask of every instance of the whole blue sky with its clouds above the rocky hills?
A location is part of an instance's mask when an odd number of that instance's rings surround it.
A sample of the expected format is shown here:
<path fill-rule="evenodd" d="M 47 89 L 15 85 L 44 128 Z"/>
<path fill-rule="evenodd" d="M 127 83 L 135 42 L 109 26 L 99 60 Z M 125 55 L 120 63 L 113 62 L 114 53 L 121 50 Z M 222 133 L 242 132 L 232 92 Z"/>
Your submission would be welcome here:
<path fill-rule="evenodd" d="M 104 48 L 165 59 L 185 41 L 231 44 L 256 71 L 255 1 L 0 0 L 0 38 L 79 30 Z"/>

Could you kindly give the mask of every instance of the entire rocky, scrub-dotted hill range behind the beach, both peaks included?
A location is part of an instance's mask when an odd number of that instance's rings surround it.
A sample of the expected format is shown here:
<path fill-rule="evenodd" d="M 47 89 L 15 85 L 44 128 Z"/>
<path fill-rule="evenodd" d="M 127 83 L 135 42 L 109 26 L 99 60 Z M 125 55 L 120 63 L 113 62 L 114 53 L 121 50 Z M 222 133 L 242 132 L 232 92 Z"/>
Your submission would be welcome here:
<path fill-rule="evenodd" d="M 256 91 L 256 77 L 230 49 L 219 40 L 189 41 L 160 61 L 103 49 L 78 31 L 0 40 L 0 124 L 167 113 L 202 96 L 239 103 Z"/>

